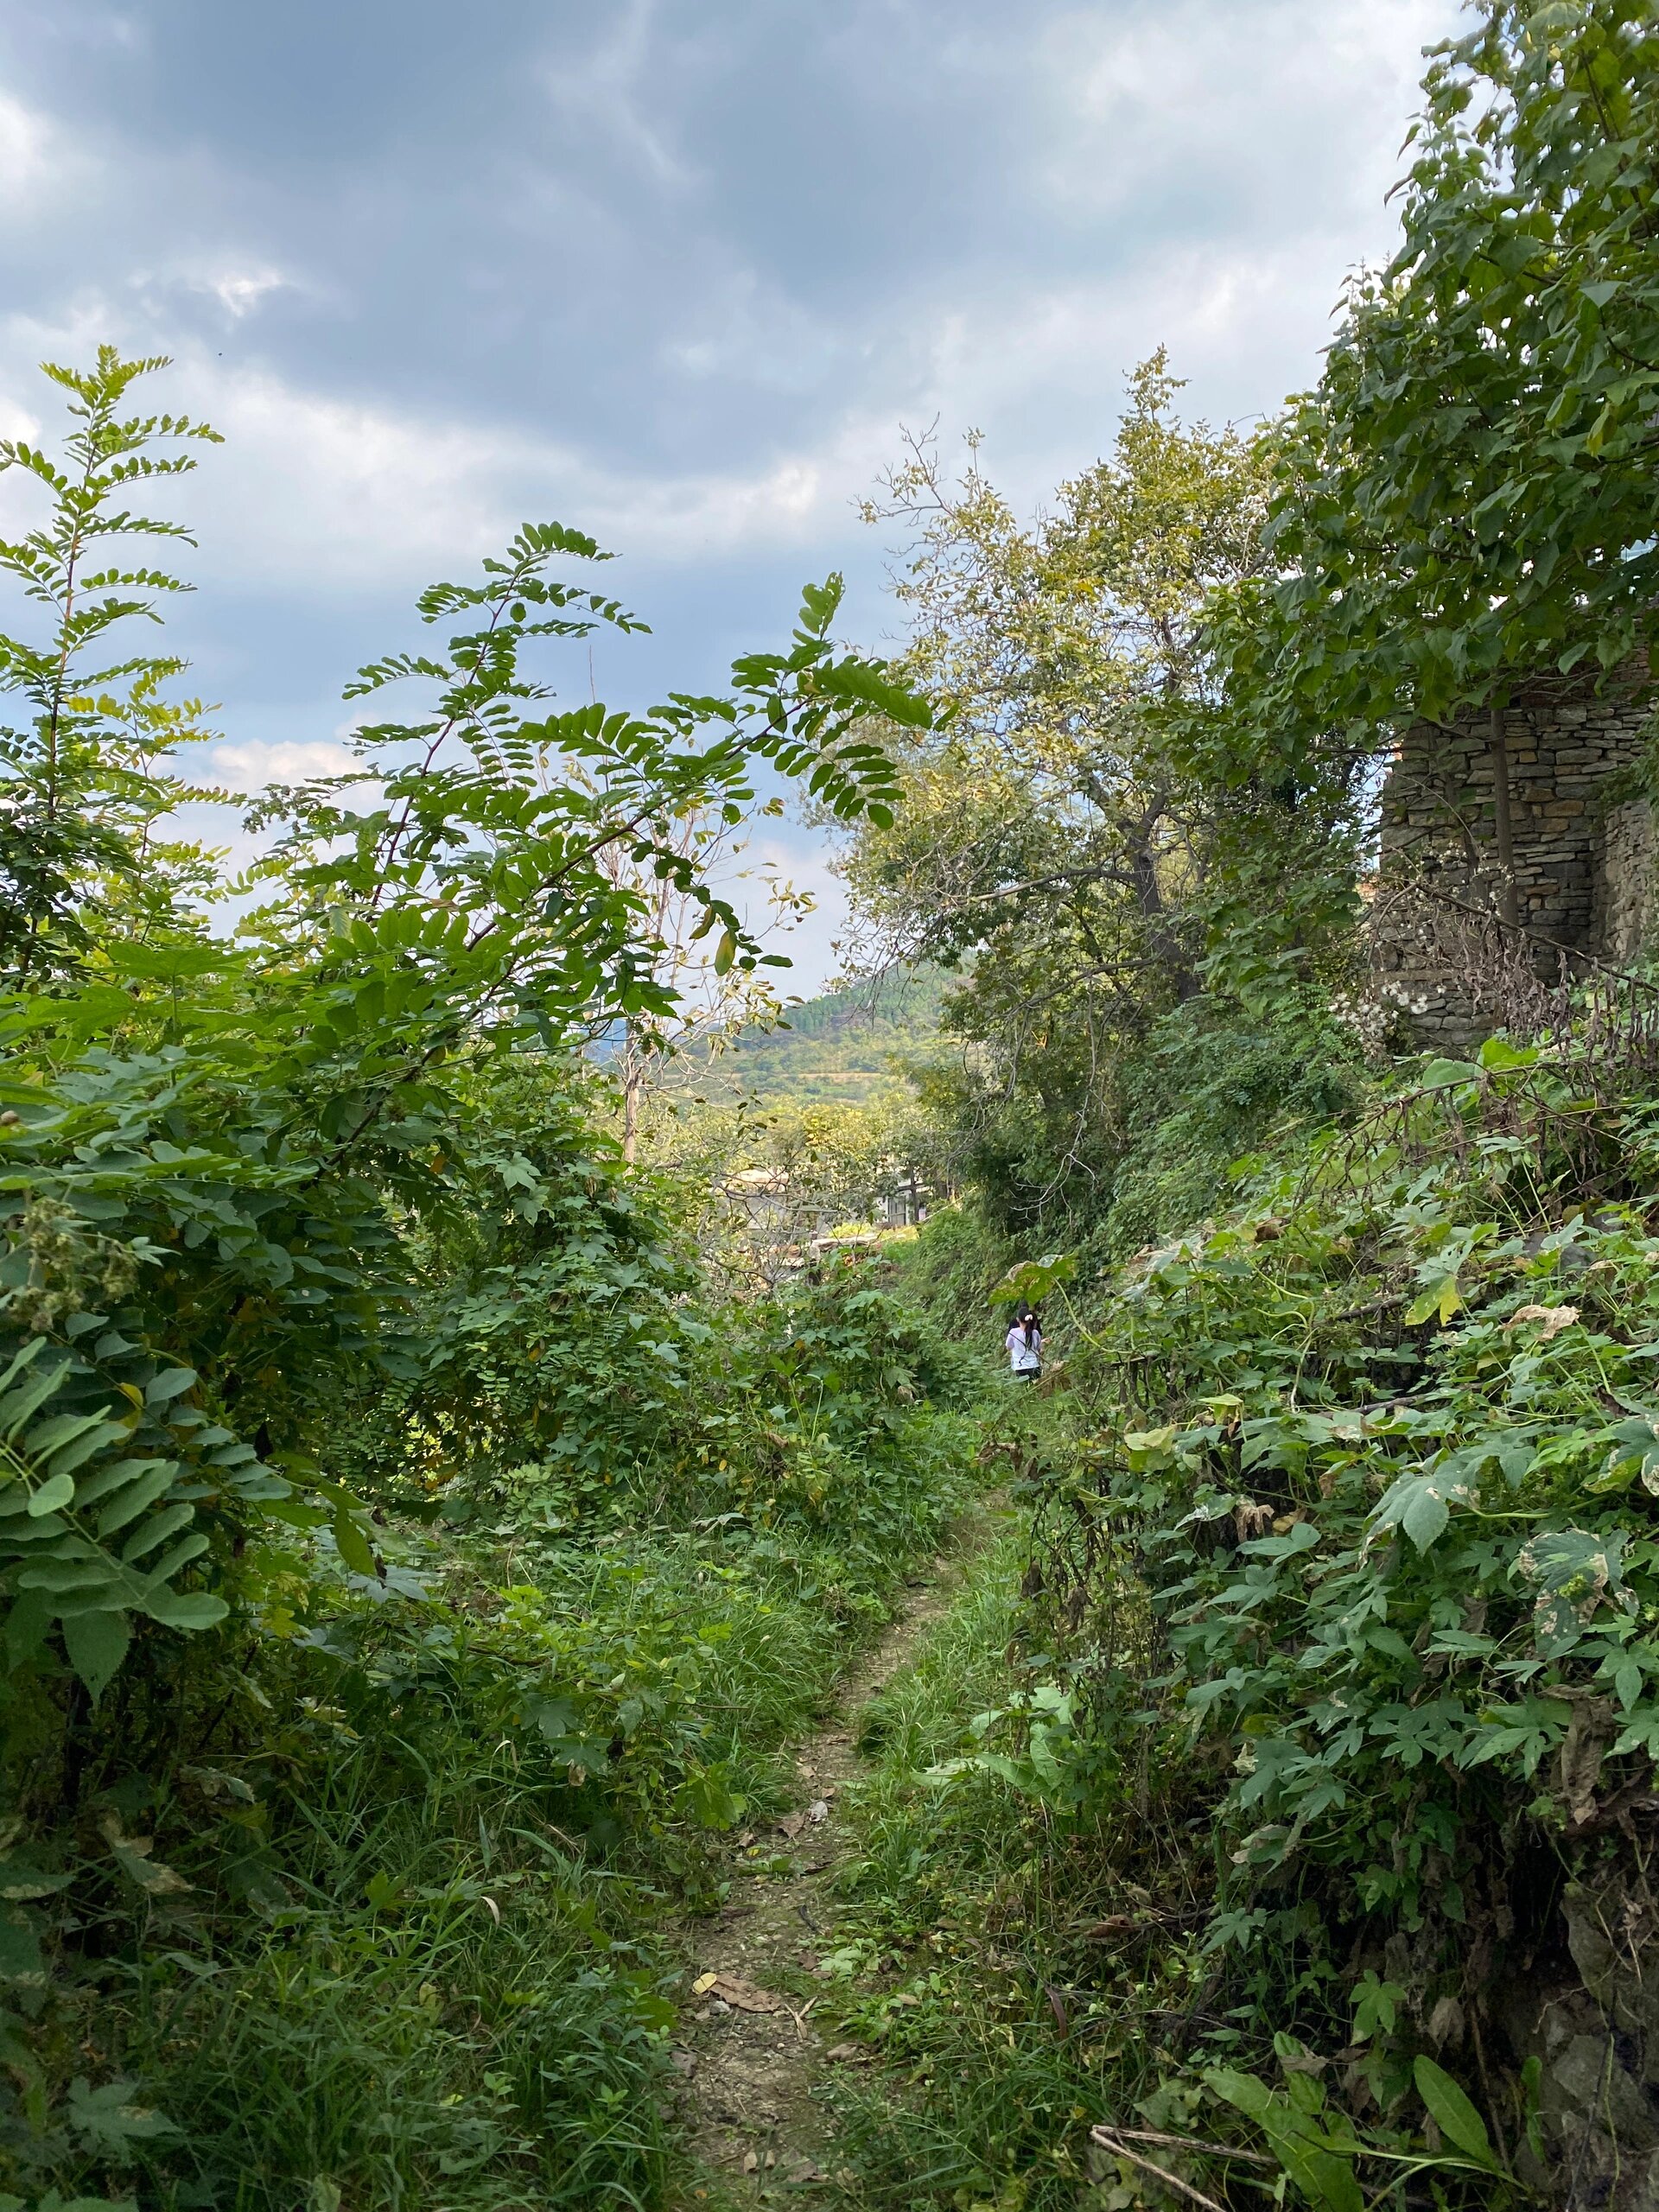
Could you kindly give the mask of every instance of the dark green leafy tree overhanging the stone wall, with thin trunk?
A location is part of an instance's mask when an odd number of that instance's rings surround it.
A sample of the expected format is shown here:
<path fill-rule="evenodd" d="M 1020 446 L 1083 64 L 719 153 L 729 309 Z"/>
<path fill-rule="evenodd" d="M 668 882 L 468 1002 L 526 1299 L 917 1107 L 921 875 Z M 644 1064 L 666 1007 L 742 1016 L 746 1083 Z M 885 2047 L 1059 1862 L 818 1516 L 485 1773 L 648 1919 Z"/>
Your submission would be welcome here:
<path fill-rule="evenodd" d="M 1383 750 L 1655 639 L 1659 27 L 1480 0 L 1425 80 L 1400 248 L 1274 438 L 1272 577 L 1219 608 L 1237 757 Z"/>

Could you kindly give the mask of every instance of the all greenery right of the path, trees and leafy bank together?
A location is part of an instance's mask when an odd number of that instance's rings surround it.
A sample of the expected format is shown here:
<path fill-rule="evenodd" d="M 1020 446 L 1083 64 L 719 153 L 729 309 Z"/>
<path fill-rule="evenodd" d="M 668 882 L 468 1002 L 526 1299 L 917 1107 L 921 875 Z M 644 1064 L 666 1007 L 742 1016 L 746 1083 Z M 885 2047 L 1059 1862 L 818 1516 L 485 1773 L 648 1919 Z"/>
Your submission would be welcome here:
<path fill-rule="evenodd" d="M 973 956 L 978 1048 L 907 1287 L 1035 1298 L 1060 1365 L 1022 1599 L 872 1717 L 858 2201 L 1652 2192 L 1650 991 L 1389 1060 L 1345 907 L 1409 719 L 1650 641 L 1652 22 L 1473 13 L 1400 252 L 1256 447 L 1157 361 L 1055 520 L 931 456 L 889 502 L 956 719 L 856 880 Z"/>

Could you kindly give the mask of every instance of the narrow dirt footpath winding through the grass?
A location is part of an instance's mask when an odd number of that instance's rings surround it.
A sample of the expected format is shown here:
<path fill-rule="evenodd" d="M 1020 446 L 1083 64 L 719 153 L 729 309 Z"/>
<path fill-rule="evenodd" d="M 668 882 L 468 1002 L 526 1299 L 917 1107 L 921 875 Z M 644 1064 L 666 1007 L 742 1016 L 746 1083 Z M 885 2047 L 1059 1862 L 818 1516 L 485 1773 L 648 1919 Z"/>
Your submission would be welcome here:
<path fill-rule="evenodd" d="M 909 1586 L 880 1641 L 845 1674 L 825 1728 L 799 1747 L 799 1809 L 741 1845 L 728 1902 L 688 1929 L 697 1978 L 675 2064 L 686 2077 L 688 2148 L 703 2172 L 686 2208 L 805 2205 L 827 2181 L 825 2115 L 810 2090 L 830 2037 L 812 2015 L 818 1958 L 834 1949 L 830 1878 L 854 1849 L 843 1798 L 863 1767 L 856 1717 L 949 1610 L 978 1548 L 964 1537 Z"/>

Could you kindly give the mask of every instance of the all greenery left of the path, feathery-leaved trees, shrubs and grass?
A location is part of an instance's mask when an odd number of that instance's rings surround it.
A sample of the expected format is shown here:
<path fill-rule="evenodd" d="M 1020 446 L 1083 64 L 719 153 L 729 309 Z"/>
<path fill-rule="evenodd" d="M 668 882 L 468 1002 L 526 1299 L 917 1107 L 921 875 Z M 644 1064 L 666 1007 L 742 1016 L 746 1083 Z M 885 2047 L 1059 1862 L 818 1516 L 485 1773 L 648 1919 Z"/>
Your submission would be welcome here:
<path fill-rule="evenodd" d="M 836 586 L 726 699 L 553 710 L 542 639 L 635 624 L 526 526 L 367 666 L 361 765 L 268 792 L 252 909 L 170 838 L 199 710 L 122 624 L 179 540 L 122 502 L 199 425 L 164 363 L 53 369 L 0 553 L 9 898 L 0 2188 L 42 2203 L 657 2203 L 668 1902 L 964 1484 L 960 1378 L 841 1270 L 743 1307 L 630 1172 L 584 1044 L 672 1009 L 670 880 L 759 759 L 841 814 Z M 385 710 L 383 710 L 385 712 Z M 617 858 L 626 867 L 617 867 Z M 53 2194 L 53 2190 L 58 2194 Z"/>

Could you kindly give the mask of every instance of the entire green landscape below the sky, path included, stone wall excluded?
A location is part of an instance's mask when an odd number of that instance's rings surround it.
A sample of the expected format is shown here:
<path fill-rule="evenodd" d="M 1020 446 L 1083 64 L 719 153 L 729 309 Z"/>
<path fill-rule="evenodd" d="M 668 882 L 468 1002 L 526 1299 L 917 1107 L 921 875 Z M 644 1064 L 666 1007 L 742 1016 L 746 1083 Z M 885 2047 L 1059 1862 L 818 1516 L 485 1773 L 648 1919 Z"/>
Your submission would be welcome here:
<path fill-rule="evenodd" d="M 1480 0 L 1422 100 L 1314 392 L 1159 354 L 1033 522 L 920 440 L 902 653 L 832 577 L 650 712 L 526 524 L 234 883 L 217 434 L 44 369 L 0 2212 L 1659 2203 L 1659 982 L 1506 821 L 1458 1057 L 1367 922 L 1407 726 L 1646 697 L 1659 27 Z M 774 1026 L 763 770 L 874 1018 Z"/>

